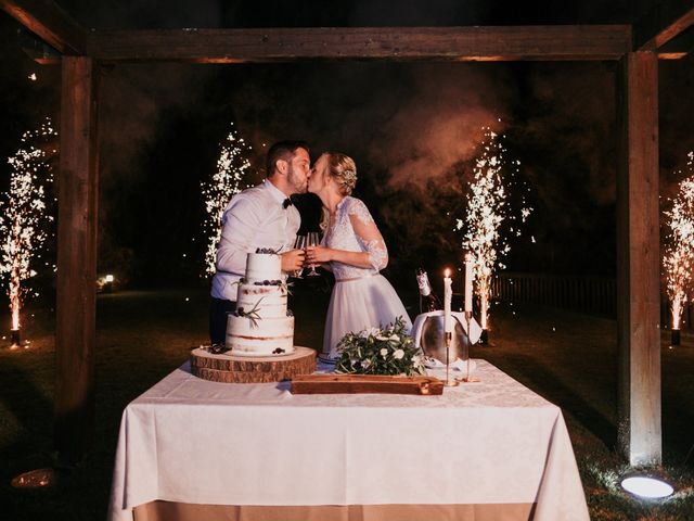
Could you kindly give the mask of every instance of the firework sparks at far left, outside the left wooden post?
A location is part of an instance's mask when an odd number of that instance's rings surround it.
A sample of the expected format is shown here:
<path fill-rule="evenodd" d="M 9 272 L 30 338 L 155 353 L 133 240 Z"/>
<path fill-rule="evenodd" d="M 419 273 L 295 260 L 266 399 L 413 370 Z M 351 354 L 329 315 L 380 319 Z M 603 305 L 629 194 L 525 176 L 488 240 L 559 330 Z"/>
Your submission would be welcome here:
<path fill-rule="evenodd" d="M 51 158 L 56 151 L 39 144 L 50 144 L 55 136 L 47 118 L 37 130 L 25 132 L 22 147 L 8 157 L 10 189 L 0 195 L 0 278 L 8 284 L 13 331 L 20 330 L 20 309 L 31 293 L 26 281 L 37 275 L 33 260 L 40 258 L 41 246 L 51 234 L 53 216 L 47 203 L 53 183 Z"/>

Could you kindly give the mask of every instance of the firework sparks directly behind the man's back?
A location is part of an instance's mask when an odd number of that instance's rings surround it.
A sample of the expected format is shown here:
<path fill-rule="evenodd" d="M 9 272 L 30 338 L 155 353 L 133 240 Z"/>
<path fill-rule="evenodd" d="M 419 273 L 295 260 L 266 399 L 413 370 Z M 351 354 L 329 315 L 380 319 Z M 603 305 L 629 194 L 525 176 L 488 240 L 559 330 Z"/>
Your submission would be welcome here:
<path fill-rule="evenodd" d="M 250 168 L 250 162 L 247 158 L 250 145 L 236 135 L 233 125 L 232 123 L 226 141 L 221 143 L 217 171 L 209 180 L 201 182 L 206 212 L 203 231 L 207 237 L 203 277 L 215 275 L 217 243 L 221 234 L 221 216 L 232 195 L 246 188 L 246 175 Z"/>

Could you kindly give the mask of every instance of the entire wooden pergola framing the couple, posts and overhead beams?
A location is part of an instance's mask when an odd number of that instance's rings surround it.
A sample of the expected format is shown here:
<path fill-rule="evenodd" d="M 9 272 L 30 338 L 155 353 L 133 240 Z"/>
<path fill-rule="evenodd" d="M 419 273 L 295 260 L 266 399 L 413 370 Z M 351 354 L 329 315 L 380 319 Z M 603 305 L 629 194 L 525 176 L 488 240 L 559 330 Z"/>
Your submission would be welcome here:
<path fill-rule="evenodd" d="M 658 463 L 660 429 L 658 59 L 689 51 L 694 2 L 666 0 L 633 25 L 87 30 L 51 0 L 0 0 L 62 62 L 55 448 L 68 460 L 94 430 L 98 71 L 102 64 L 316 60 L 620 63 L 617 178 L 619 445 Z"/>

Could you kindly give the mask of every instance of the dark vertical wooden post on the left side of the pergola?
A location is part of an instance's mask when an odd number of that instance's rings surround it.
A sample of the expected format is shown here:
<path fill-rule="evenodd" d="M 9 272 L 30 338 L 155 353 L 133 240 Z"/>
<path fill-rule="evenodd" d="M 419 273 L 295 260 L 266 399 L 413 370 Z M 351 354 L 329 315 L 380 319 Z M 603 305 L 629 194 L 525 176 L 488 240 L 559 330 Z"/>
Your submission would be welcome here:
<path fill-rule="evenodd" d="M 90 58 L 62 61 L 54 441 L 73 465 L 94 430 L 97 87 Z"/>

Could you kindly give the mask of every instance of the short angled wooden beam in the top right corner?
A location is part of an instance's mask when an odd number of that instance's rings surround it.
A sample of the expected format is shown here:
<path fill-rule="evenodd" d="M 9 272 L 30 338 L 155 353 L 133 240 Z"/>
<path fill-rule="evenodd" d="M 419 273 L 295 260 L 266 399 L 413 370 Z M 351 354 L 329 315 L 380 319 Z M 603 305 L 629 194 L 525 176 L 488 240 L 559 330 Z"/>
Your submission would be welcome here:
<path fill-rule="evenodd" d="M 692 0 L 661 0 L 633 25 L 633 49 L 653 51 L 694 25 Z"/>

